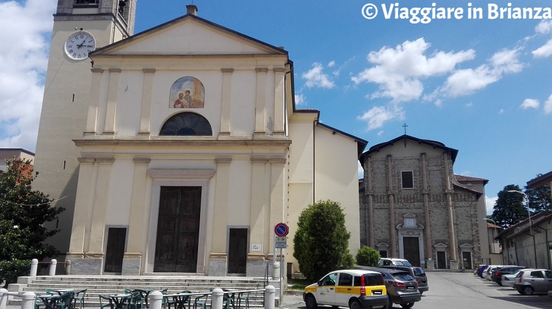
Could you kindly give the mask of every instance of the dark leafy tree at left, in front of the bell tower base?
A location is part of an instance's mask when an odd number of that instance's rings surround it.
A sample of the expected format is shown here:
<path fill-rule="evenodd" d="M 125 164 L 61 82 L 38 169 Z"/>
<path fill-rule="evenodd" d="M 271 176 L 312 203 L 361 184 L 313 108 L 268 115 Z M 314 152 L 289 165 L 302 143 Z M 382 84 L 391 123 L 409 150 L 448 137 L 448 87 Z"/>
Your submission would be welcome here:
<path fill-rule="evenodd" d="M 57 254 L 44 241 L 59 230 L 48 230 L 44 223 L 56 220 L 64 209 L 50 207 L 48 195 L 32 190 L 38 172 L 32 172 L 31 161 L 6 163 L 6 172 L 0 171 L 0 281 L 7 285 L 28 276 L 31 259 Z"/>

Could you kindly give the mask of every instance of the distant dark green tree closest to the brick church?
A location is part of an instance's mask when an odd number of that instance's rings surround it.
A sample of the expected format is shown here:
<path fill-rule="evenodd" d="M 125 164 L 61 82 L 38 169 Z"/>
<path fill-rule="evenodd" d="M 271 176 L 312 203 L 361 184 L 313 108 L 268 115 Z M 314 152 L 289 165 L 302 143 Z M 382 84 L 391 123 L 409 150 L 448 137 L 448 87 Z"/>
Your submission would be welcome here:
<path fill-rule="evenodd" d="M 497 226 L 512 226 L 529 217 L 524 203 L 524 195 L 508 191 L 521 191 L 521 189 L 517 185 L 508 185 L 498 192 L 498 199 L 491 216 Z"/>

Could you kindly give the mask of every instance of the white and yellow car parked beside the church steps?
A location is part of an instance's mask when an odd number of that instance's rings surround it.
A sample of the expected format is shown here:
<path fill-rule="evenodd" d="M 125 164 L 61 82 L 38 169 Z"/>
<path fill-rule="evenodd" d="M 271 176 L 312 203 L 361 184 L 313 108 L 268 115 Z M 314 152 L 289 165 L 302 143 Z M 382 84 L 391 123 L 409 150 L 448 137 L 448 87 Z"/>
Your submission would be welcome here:
<path fill-rule="evenodd" d="M 363 309 L 388 306 L 384 277 L 373 270 L 336 270 L 303 292 L 306 308 L 318 305 Z"/>

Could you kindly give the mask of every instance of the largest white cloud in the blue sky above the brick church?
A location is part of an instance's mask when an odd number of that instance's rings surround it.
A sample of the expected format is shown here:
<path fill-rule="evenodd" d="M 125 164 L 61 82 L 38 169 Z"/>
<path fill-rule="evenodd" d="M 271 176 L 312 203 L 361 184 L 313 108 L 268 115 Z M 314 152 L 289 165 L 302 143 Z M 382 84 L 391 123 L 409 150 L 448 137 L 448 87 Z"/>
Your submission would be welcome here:
<path fill-rule="evenodd" d="M 405 41 L 395 48 L 384 47 L 368 54 L 368 62 L 375 64 L 351 77 L 355 84 L 363 81 L 377 83 L 380 90 L 371 98 L 387 97 L 393 102 L 419 99 L 424 91 L 420 79 L 446 74 L 458 63 L 475 57 L 474 50 L 435 52 L 425 55 L 431 46 L 423 38 Z"/>

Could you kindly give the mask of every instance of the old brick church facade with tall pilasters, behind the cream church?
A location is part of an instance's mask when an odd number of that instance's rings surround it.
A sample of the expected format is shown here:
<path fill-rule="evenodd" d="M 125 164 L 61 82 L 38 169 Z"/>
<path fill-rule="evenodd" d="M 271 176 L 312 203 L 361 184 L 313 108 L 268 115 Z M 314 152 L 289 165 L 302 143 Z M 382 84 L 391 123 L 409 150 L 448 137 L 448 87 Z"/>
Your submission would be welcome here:
<path fill-rule="evenodd" d="M 361 244 L 430 270 L 480 263 L 486 179 L 454 175 L 457 152 L 406 134 L 364 152 Z"/>

